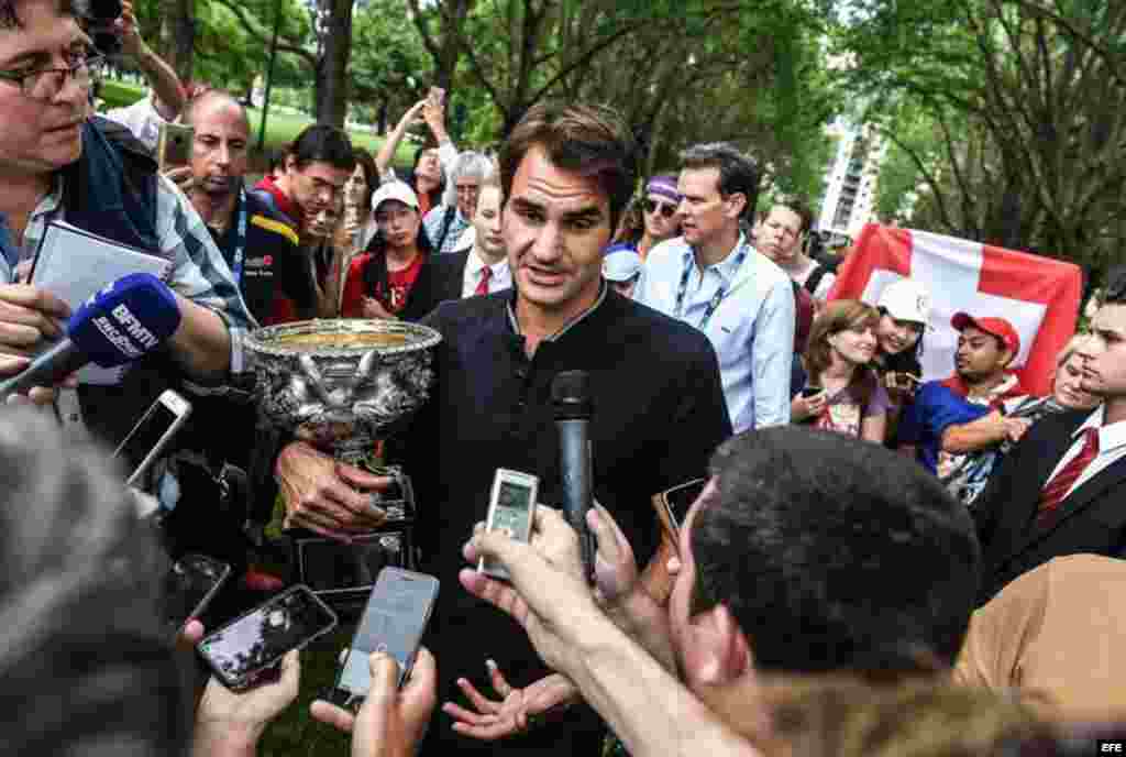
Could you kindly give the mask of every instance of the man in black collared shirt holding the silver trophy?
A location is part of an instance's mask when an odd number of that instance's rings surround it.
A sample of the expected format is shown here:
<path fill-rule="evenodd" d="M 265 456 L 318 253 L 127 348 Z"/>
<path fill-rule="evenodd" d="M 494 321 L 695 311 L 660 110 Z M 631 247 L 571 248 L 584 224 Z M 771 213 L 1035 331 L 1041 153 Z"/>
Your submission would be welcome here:
<path fill-rule="evenodd" d="M 513 290 L 443 303 L 425 321 L 443 335 L 438 379 L 402 440 L 402 460 L 419 500 L 421 569 L 443 582 L 426 640 L 443 674 L 443 701 L 457 696 L 458 677 L 485 688 L 486 658 L 516 686 L 548 674 L 519 626 L 462 591 L 457 572 L 461 545 L 486 515 L 498 467 L 539 477 L 539 500 L 562 502 L 551 403 L 557 373 L 590 373 L 595 497 L 643 564 L 659 542 L 650 498 L 706 475 L 708 455 L 731 433 L 707 338 L 622 297 L 601 278 L 602 251 L 635 182 L 632 148 L 610 112 L 529 110 L 500 158 Z M 331 458 L 304 443 L 283 452 L 278 474 L 296 495 L 289 501 L 294 520 L 354 522 L 336 499 L 332 471 Z M 423 755 L 474 747 L 488 754 L 592 755 L 601 734 L 586 710 L 502 746 L 475 742 L 439 718 Z"/>

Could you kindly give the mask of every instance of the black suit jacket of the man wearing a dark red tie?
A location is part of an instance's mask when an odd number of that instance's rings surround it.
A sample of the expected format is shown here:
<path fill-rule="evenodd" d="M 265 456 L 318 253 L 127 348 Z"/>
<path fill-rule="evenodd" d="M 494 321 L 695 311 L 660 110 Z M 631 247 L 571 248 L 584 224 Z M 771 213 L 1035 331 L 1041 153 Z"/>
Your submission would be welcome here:
<path fill-rule="evenodd" d="M 1126 556 L 1126 458 L 1085 481 L 1046 523 L 1036 522 L 1044 484 L 1090 413 L 1075 410 L 1040 419 L 982 493 L 974 510 L 983 558 L 980 605 L 1052 558 L 1082 552 Z"/>

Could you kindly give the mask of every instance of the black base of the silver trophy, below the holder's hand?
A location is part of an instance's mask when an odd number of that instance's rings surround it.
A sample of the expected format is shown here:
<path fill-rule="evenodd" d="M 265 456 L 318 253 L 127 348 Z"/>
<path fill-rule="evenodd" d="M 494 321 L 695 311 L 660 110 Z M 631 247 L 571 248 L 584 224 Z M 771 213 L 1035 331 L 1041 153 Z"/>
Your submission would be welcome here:
<path fill-rule="evenodd" d="M 357 536 L 351 544 L 334 540 L 297 542 L 302 580 L 314 591 L 354 591 L 375 584 L 388 565 L 406 564 L 403 534 L 388 532 Z"/>

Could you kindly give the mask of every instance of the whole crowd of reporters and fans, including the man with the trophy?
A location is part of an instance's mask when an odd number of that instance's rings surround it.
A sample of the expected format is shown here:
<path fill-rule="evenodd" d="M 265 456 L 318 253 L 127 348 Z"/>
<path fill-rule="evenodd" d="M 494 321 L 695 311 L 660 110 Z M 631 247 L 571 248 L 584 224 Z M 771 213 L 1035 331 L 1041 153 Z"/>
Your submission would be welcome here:
<path fill-rule="evenodd" d="M 294 706 L 296 652 L 195 701 L 157 594 L 166 550 L 235 568 L 226 616 L 283 587 L 247 527 L 278 508 L 345 544 L 384 524 L 390 479 L 257 417 L 248 330 L 312 318 L 441 336 L 391 445 L 441 590 L 401 688 L 376 653 L 358 712 L 312 704 L 354 755 L 1063 755 L 1121 736 L 1126 277 L 1048 395 L 1021 385 L 1003 311 L 958 310 L 951 372 L 927 381 L 945 293 L 834 297 L 807 205 L 761 208 L 732 144 L 645 178 L 613 108 L 546 104 L 490 154 L 453 142 L 436 91 L 377 155 L 313 125 L 249 186 L 244 106 L 169 81 L 127 1 L 118 29 L 153 95 L 96 115 L 69 7 L 0 3 L 0 374 L 65 331 L 66 303 L 27 278 L 47 223 L 166 259 L 181 313 L 119 383 L 37 386 L 14 402 L 42 407 L 0 415 L 7 754 L 247 755 Z M 167 168 L 173 119 L 193 142 Z M 592 577 L 551 507 L 564 371 L 596 403 Z M 144 483 L 158 545 L 102 449 L 169 386 L 195 411 Z M 540 480 L 530 542 L 482 528 L 498 467 Z M 694 480 L 687 514 L 659 517 Z"/>

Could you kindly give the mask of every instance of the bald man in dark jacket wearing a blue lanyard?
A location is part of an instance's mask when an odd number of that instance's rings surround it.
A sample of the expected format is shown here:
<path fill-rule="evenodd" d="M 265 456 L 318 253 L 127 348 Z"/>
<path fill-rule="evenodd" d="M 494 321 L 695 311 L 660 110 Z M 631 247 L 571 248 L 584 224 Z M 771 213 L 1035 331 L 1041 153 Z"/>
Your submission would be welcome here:
<path fill-rule="evenodd" d="M 263 324 L 312 318 L 312 278 L 296 232 L 243 186 L 250 144 L 245 109 L 225 92 L 208 91 L 188 104 L 184 118 L 195 127 L 190 161 L 169 176 L 207 224 L 247 309 Z M 191 402 L 193 416 L 167 474 L 176 484 L 162 487 L 166 507 L 173 507 L 167 532 L 176 552 L 203 552 L 241 567 L 247 514 L 235 482 L 243 473 L 253 480 L 252 455 L 270 445 L 265 430 L 256 428 L 249 392 L 209 397 L 196 391 Z M 250 580 L 256 581 L 261 582 Z"/>

